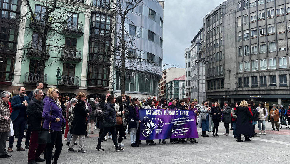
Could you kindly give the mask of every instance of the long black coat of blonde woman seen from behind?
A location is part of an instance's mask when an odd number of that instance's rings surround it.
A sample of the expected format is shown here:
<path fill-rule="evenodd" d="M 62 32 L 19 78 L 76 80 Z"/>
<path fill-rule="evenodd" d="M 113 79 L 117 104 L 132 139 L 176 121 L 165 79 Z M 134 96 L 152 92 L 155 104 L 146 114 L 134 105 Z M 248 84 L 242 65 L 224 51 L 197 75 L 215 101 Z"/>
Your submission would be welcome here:
<path fill-rule="evenodd" d="M 253 114 L 249 107 L 237 107 L 236 108 L 236 133 L 244 135 L 253 135 L 252 121 L 251 118 Z"/>

